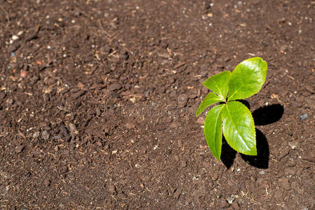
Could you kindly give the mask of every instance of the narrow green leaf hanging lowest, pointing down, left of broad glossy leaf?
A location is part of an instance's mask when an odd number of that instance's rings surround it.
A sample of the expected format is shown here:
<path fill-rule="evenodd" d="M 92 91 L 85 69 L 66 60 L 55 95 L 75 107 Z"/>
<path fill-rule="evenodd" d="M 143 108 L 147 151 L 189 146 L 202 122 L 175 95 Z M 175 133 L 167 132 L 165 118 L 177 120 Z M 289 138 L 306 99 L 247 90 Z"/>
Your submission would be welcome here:
<path fill-rule="evenodd" d="M 208 111 L 203 128 L 210 151 L 219 161 L 222 148 L 222 109 L 224 106 L 225 104 L 220 104 Z"/>

